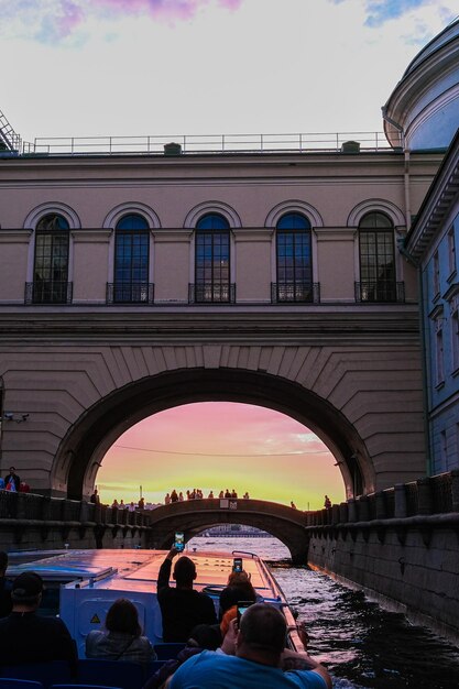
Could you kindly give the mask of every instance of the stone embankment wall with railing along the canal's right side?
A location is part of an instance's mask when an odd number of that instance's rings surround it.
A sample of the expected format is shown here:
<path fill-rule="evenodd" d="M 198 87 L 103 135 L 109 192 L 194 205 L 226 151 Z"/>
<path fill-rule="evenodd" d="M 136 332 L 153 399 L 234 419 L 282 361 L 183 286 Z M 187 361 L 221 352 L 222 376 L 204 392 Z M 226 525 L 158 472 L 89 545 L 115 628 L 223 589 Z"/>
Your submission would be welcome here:
<path fill-rule="evenodd" d="M 450 492 L 444 490 L 445 484 Z M 363 588 L 370 598 L 458 644 L 458 471 L 397 485 L 389 518 L 383 512 L 383 494 L 364 500 L 362 505 L 357 501 L 334 505 L 323 511 L 326 515 L 309 515 L 309 522 L 328 517 L 328 524 L 307 527 L 309 566 Z M 413 499 L 416 493 L 417 497 L 420 493 L 420 501 Z M 449 511 L 435 511 L 435 494 L 437 499 L 444 495 Z M 417 504 L 417 513 L 407 515 L 413 504 Z M 427 513 L 428 507 L 433 513 Z M 360 521 L 359 510 L 365 514 L 364 521 Z"/>

